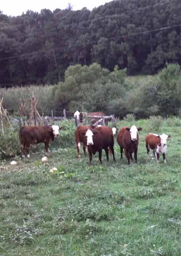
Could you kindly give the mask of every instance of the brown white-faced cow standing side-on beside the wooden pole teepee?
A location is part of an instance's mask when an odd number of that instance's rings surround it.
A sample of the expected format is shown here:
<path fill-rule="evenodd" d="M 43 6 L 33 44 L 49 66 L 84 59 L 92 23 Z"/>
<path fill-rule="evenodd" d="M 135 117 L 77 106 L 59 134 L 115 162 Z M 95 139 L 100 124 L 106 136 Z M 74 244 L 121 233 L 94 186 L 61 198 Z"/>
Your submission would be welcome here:
<path fill-rule="evenodd" d="M 59 130 L 63 127 L 58 125 L 44 125 L 44 126 L 24 126 L 20 128 L 19 138 L 21 143 L 22 157 L 30 157 L 30 145 L 37 145 L 38 143 L 45 143 L 46 154 L 50 153 L 49 142 L 54 141 L 55 137 L 60 135 Z"/>

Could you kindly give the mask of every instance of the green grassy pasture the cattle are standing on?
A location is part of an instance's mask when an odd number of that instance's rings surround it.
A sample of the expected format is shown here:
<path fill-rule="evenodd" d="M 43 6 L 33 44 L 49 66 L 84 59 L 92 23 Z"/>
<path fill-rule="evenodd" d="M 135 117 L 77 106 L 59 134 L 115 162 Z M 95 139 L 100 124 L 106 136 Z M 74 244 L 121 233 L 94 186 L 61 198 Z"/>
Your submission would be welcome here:
<path fill-rule="evenodd" d="M 181 120 L 180 120 L 181 121 Z M 118 127 L 130 125 L 119 121 Z M 0 163 L 1 256 L 181 255 L 181 128 L 164 120 L 159 131 L 135 121 L 138 164 L 127 165 L 115 143 L 114 164 L 98 153 L 77 158 L 75 145 L 54 148 L 41 163 L 43 147 L 18 165 Z M 75 129 L 72 127 L 72 129 Z M 167 164 L 147 162 L 147 132 L 167 133 Z M 73 133 L 72 133 L 73 134 Z M 62 140 L 67 132 L 62 132 Z M 116 140 L 115 140 L 116 141 Z M 152 154 L 151 154 L 152 155 Z M 58 171 L 51 173 L 52 167 Z"/>

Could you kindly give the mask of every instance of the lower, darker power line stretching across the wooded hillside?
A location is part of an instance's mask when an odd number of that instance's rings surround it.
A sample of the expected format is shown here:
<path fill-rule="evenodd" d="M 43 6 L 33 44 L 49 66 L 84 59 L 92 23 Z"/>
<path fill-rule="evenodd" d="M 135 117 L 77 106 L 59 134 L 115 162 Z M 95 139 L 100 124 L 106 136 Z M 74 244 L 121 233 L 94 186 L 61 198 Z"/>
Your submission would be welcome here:
<path fill-rule="evenodd" d="M 130 37 L 130 36 L 142 35 L 142 34 L 146 34 L 146 33 L 149 33 L 149 32 L 164 31 L 166 29 L 171 29 L 171 28 L 176 28 L 176 27 L 181 27 L 181 24 L 173 25 L 173 26 L 168 26 L 168 27 L 162 27 L 162 28 L 145 30 L 145 31 L 142 31 L 142 32 L 132 33 L 132 34 L 129 34 L 129 35 L 113 36 L 113 37 L 106 38 L 106 39 L 108 39 L 108 40 L 121 39 L 121 38 L 125 38 L 125 37 Z M 81 46 L 89 45 L 89 44 L 95 44 L 98 41 L 99 41 L 99 39 L 98 40 L 94 40 L 94 41 L 89 41 L 89 43 L 73 44 L 73 45 L 69 46 L 69 48 L 81 47 Z M 38 51 L 33 51 L 33 52 L 30 52 L 30 53 L 22 53 L 22 54 L 16 55 L 16 56 L 5 57 L 5 58 L 1 58 L 0 60 L 16 59 L 18 57 L 29 56 L 29 55 L 33 55 L 35 53 L 42 52 L 42 51 L 46 51 L 46 52 L 53 51 L 53 50 L 56 51 L 56 50 L 60 50 L 62 48 L 64 48 L 64 47 L 49 48 L 49 49 L 39 49 Z"/>

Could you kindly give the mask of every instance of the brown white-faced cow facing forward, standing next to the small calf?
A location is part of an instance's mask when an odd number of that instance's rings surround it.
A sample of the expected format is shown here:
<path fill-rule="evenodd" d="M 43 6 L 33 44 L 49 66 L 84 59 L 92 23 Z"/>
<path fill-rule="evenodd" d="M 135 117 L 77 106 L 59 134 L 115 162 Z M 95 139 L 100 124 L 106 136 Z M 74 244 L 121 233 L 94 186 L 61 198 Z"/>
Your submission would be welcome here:
<path fill-rule="evenodd" d="M 141 131 L 142 128 L 136 128 L 135 125 L 132 125 L 131 128 L 123 127 L 117 136 L 117 142 L 120 146 L 121 158 L 123 154 L 123 149 L 125 151 L 125 156 L 127 158 L 127 164 L 130 164 L 130 158 L 132 159 L 132 153 L 134 152 L 135 162 L 137 163 L 137 152 L 138 152 L 138 143 L 139 135 L 138 131 Z"/>

